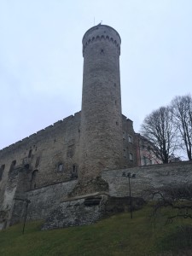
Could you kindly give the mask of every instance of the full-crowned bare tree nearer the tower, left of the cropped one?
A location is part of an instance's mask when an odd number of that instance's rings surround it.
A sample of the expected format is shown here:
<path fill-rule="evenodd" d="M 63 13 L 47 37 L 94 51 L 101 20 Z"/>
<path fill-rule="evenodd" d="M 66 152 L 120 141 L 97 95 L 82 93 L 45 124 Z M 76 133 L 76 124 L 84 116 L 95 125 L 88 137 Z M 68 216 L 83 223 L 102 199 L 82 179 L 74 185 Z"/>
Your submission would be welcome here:
<path fill-rule="evenodd" d="M 161 107 L 150 113 L 143 120 L 141 133 L 153 145 L 150 149 L 155 156 L 163 163 L 168 163 L 177 147 L 172 108 Z"/>

